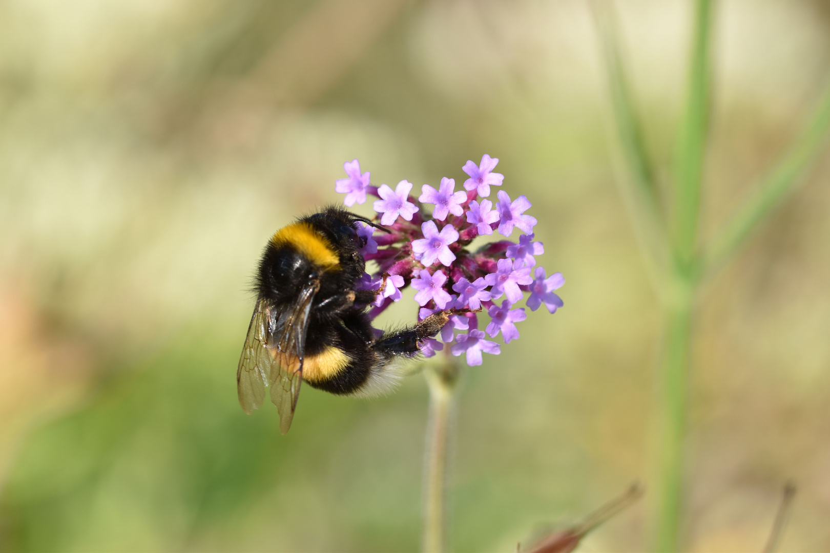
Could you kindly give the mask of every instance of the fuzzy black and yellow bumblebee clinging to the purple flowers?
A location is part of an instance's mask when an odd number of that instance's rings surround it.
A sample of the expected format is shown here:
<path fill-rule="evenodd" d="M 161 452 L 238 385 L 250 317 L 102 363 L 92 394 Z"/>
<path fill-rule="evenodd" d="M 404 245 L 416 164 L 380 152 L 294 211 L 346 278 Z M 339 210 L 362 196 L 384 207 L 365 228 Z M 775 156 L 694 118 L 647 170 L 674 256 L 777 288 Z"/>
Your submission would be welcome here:
<path fill-rule="evenodd" d="M 399 380 L 393 361 L 416 357 L 422 341 L 453 313 L 378 337 L 366 308 L 379 291 L 355 289 L 366 266 L 357 221 L 383 229 L 333 206 L 277 230 L 262 253 L 237 391 L 250 415 L 271 386 L 282 434 L 291 427 L 303 381 L 339 395 L 383 393 Z"/>

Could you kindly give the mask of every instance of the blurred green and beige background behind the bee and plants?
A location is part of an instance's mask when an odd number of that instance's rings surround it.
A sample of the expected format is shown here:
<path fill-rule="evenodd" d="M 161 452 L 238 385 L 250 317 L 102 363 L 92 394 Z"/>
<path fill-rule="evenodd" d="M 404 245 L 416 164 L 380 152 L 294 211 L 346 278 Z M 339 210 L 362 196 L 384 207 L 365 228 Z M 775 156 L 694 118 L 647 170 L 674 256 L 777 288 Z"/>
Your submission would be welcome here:
<path fill-rule="evenodd" d="M 691 2 L 617 8 L 667 182 Z M 830 3 L 717 2 L 714 51 L 708 234 L 818 99 Z M 261 247 L 353 158 L 416 189 L 500 158 L 567 279 L 466 372 L 453 548 L 515 551 L 648 482 L 661 321 L 612 122 L 584 0 L 0 2 L 0 549 L 418 549 L 421 376 L 306 387 L 284 437 L 237 405 Z M 828 178 L 825 150 L 701 298 L 688 550 L 760 551 L 793 478 L 783 549 L 830 551 Z M 583 551 L 642 550 L 647 505 Z"/>

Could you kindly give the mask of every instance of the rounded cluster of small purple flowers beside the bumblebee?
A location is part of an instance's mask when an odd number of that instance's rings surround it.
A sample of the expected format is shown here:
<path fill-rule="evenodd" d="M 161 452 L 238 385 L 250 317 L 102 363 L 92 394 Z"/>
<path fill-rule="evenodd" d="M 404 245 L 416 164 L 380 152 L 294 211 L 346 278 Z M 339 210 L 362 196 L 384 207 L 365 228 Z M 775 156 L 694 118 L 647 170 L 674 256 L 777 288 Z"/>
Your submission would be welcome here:
<path fill-rule="evenodd" d="M 378 264 L 378 270 L 364 274 L 358 284 L 360 289 L 379 290 L 369 317 L 377 317 L 399 301 L 401 289 L 410 285 L 421 307 L 418 320 L 442 309 L 457 310 L 438 337 L 422 344 L 426 357 L 454 342 L 449 348 L 452 355 L 464 353 L 467 365 L 481 365 L 481 352 L 501 352 L 499 344 L 486 337 L 501 333 L 505 343 L 519 337 L 515 323 L 527 315 L 525 308 L 515 305 L 525 293 L 530 293 L 525 305 L 531 311 L 544 303 L 550 313 L 556 313 L 563 305 L 554 293 L 565 282 L 562 274 L 548 277 L 544 267 L 536 266 L 535 256 L 544 253 L 544 246 L 534 241 L 533 227 L 538 221 L 525 214 L 530 201 L 525 196 L 511 200 L 504 190 L 496 194 L 495 206 L 485 199 L 490 187 L 504 182 L 504 175 L 493 172 L 498 163 L 498 158 L 486 154 L 479 165 L 468 161 L 461 167 L 470 177 L 464 182 L 466 192 L 456 192 L 455 180 L 444 177 L 437 189 L 423 185 L 417 200 L 410 195 L 413 184 L 406 180 L 394 190 L 385 184 L 371 186 L 369 172 L 361 173 L 356 159 L 344 163 L 349 177 L 336 182 L 335 190 L 346 195 L 346 206 L 364 203 L 367 194 L 377 196 L 375 218 L 389 230 L 381 232 L 362 224 L 358 230 L 365 241 L 361 253 Z M 424 209 L 427 204 L 434 206 L 432 215 Z M 525 233 L 518 243 L 499 240 L 475 251 L 467 249 L 478 235 L 492 235 L 495 230 L 507 237 L 515 229 Z M 502 297 L 499 305 L 495 300 Z M 491 319 L 483 331 L 478 329 L 479 314 Z"/>

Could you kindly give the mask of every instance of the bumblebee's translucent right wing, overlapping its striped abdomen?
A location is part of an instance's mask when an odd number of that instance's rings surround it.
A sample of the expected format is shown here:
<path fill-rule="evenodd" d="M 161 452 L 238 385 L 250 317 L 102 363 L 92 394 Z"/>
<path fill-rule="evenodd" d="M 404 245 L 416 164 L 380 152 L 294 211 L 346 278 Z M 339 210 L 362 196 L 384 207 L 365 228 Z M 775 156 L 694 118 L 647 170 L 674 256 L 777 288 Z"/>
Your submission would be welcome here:
<path fill-rule="evenodd" d="M 320 282 L 314 281 L 300 289 L 296 302 L 290 309 L 273 313 L 269 319 L 267 346 L 274 355 L 269 383 L 271 401 L 280 413 L 280 431 L 286 434 L 291 428 L 297 398 L 302 384 L 303 359 L 305 358 L 305 334 L 309 325 L 311 303 Z"/>

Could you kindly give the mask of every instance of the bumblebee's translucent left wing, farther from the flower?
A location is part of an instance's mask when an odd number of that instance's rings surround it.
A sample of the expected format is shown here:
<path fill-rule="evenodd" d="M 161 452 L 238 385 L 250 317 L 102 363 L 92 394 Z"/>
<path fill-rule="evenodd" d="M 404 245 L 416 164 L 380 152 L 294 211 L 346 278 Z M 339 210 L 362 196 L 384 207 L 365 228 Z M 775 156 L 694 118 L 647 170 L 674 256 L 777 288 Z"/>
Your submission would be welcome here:
<path fill-rule="evenodd" d="M 265 387 L 271 379 L 276 361 L 268 350 L 269 310 L 266 300 L 256 302 L 242 357 L 237 368 L 237 393 L 239 405 L 248 415 L 259 409 L 265 399 Z"/>

